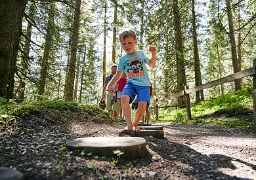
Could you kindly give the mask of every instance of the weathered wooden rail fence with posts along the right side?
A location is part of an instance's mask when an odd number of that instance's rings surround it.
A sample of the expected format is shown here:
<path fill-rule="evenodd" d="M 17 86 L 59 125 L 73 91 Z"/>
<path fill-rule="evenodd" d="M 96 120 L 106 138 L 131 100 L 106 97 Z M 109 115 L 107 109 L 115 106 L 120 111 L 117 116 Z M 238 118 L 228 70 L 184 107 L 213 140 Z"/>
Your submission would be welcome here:
<path fill-rule="evenodd" d="M 253 77 L 253 127 L 256 128 L 256 69 L 255 67 L 256 67 L 256 59 L 253 60 L 253 67 L 249 69 L 245 69 L 244 71 L 240 71 L 232 75 L 228 75 L 221 79 L 217 79 L 215 81 L 211 81 L 206 84 L 196 86 L 194 88 L 188 88 L 188 86 L 185 86 L 184 90 L 182 90 L 181 92 L 177 92 L 171 96 L 161 99 L 160 101 L 156 99 L 156 101 L 150 105 L 150 108 L 155 109 L 156 120 L 158 120 L 158 108 L 159 108 L 158 105 L 160 105 L 161 103 L 167 102 L 170 99 L 176 99 L 176 98 L 179 98 L 180 96 L 186 96 L 186 117 L 188 120 L 190 120 L 191 119 L 190 95 L 189 95 L 190 93 L 196 92 L 199 90 L 204 90 L 206 88 L 211 88 L 213 86 L 224 84 L 226 82 L 234 81 L 236 79 L 242 79 L 244 77 L 251 76 Z"/>

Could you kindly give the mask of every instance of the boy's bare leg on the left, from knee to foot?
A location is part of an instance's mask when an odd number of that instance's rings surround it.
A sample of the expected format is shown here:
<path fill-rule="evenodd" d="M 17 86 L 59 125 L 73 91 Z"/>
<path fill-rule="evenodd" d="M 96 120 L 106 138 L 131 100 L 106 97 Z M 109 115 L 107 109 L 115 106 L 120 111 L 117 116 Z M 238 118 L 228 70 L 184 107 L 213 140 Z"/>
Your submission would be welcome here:
<path fill-rule="evenodd" d="M 131 131 L 133 130 L 133 124 L 131 122 L 131 107 L 130 107 L 129 101 L 130 101 L 130 96 L 123 94 L 121 97 L 121 104 L 123 109 L 123 115 L 125 116 L 125 120 L 127 123 L 127 126 L 125 127 L 125 129 Z"/>

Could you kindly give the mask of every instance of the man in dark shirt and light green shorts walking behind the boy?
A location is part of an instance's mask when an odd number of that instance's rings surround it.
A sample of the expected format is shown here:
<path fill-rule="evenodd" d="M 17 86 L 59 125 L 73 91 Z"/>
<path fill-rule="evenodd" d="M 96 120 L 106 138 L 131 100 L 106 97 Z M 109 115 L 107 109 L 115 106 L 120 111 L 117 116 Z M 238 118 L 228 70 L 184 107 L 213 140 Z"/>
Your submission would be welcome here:
<path fill-rule="evenodd" d="M 114 77 L 114 75 L 116 74 L 116 70 L 117 70 L 117 65 L 112 65 L 111 66 L 111 75 L 106 77 L 106 80 L 105 80 L 104 88 L 102 90 L 101 101 L 105 100 L 105 92 L 106 92 L 106 88 L 108 86 L 108 82 L 110 82 L 112 77 Z M 117 112 L 116 112 L 117 111 L 117 102 L 114 102 L 113 105 L 110 105 L 112 98 L 113 98 L 112 94 L 110 94 L 110 92 L 108 92 L 108 94 L 106 96 L 106 110 L 108 110 L 108 112 L 111 113 L 114 118 L 117 118 Z"/>

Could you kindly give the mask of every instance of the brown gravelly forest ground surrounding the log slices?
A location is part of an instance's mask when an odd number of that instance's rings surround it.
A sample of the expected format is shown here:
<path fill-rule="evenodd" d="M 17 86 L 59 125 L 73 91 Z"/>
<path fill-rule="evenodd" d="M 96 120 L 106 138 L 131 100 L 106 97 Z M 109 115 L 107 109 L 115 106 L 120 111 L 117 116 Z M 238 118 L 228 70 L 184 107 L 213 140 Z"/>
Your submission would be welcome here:
<path fill-rule="evenodd" d="M 123 125 L 81 110 L 24 115 L 11 133 L 0 136 L 0 166 L 21 171 L 26 179 L 256 179 L 255 132 L 158 125 L 165 139 L 145 137 L 148 155 L 126 161 L 66 147 L 77 137 L 117 136 Z"/>

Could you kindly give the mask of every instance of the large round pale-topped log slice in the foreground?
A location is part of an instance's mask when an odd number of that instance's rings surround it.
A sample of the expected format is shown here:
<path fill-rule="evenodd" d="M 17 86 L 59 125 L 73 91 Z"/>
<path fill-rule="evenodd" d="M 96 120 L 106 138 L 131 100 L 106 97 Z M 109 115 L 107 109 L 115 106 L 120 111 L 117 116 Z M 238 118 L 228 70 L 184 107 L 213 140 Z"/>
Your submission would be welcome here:
<path fill-rule="evenodd" d="M 129 159 L 146 156 L 146 139 L 142 137 L 82 137 L 67 141 L 72 150 L 84 150 L 98 156 L 116 156 L 113 151 L 119 150 Z"/>

